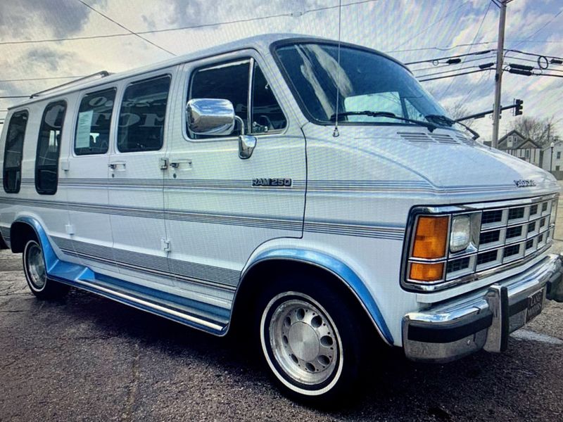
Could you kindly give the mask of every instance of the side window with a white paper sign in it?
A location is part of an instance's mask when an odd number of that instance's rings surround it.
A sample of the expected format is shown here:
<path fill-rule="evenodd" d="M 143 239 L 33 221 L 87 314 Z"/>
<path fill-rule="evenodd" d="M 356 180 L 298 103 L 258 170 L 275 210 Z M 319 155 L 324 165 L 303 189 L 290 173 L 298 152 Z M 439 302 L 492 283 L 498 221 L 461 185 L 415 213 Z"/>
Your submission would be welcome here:
<path fill-rule="evenodd" d="M 76 122 L 76 155 L 105 154 L 110 141 L 110 123 L 115 88 L 87 94 L 80 101 Z"/>

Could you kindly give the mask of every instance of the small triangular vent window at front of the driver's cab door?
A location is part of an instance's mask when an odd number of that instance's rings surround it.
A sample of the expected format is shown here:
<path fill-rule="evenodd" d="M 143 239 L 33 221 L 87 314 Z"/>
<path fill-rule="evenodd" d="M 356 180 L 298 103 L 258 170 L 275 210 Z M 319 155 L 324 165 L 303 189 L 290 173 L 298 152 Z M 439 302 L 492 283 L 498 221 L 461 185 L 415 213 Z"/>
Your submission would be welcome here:
<path fill-rule="evenodd" d="M 254 66 L 253 75 L 251 132 L 259 134 L 284 129 L 286 117 L 258 64 Z"/>

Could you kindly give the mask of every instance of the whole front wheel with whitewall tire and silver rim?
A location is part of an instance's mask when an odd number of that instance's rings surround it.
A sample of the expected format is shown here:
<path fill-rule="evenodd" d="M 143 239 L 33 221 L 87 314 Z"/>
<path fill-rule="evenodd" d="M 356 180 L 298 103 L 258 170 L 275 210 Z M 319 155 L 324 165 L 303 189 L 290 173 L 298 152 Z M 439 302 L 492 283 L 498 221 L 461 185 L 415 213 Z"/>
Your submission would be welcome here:
<path fill-rule="evenodd" d="M 350 396 L 358 378 L 360 321 L 353 306 L 327 286 L 311 280 L 299 284 L 270 293 L 262 302 L 262 352 L 287 395 L 330 406 L 334 399 Z"/>

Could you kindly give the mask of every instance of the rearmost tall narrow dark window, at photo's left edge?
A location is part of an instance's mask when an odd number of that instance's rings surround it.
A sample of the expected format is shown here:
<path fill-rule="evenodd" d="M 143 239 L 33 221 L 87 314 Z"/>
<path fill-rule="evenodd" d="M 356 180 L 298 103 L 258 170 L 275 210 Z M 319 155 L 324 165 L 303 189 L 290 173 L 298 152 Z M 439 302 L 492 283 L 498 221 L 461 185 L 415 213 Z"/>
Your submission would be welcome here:
<path fill-rule="evenodd" d="M 18 193 L 22 181 L 22 154 L 27 111 L 14 113 L 8 124 L 4 149 L 4 191 Z"/>

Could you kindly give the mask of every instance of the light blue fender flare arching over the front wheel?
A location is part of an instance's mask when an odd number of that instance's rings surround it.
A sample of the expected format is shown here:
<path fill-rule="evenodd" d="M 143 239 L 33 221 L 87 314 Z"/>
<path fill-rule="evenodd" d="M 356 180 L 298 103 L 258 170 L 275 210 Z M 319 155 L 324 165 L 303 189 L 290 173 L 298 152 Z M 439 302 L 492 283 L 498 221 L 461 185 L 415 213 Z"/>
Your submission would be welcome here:
<path fill-rule="evenodd" d="M 343 281 L 345 281 L 350 288 L 358 295 L 358 298 L 363 303 L 367 312 L 372 317 L 375 324 L 381 331 L 381 334 L 384 336 L 385 340 L 389 344 L 393 344 L 393 336 L 391 335 L 391 331 L 387 327 L 385 323 L 385 319 L 381 312 L 379 311 L 379 307 L 375 302 L 369 290 L 365 284 L 360 280 L 357 274 L 350 269 L 348 265 L 344 264 L 343 262 L 337 260 L 330 255 L 326 255 L 321 252 L 315 252 L 312 250 L 302 250 L 302 249 L 274 249 L 269 250 L 266 252 L 262 252 L 258 257 L 255 258 L 253 263 L 262 261 L 262 260 L 270 260 L 270 259 L 291 259 L 296 261 L 303 261 L 303 262 L 310 262 L 312 264 L 317 264 L 320 267 L 329 269 L 334 274 L 338 275 Z"/>

